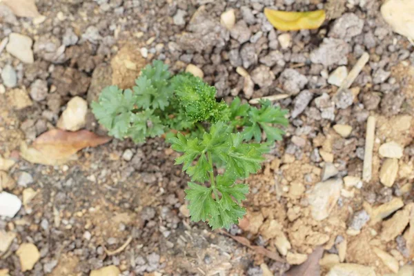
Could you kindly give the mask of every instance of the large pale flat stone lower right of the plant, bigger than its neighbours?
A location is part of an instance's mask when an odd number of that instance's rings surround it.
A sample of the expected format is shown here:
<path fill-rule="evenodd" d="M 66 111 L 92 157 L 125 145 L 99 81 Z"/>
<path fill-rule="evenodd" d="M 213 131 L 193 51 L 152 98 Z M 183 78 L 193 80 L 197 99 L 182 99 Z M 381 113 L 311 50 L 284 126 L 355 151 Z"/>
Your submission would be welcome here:
<path fill-rule="evenodd" d="M 308 195 L 311 215 L 318 221 L 326 219 L 335 207 L 342 189 L 342 179 L 330 179 L 316 184 Z"/>

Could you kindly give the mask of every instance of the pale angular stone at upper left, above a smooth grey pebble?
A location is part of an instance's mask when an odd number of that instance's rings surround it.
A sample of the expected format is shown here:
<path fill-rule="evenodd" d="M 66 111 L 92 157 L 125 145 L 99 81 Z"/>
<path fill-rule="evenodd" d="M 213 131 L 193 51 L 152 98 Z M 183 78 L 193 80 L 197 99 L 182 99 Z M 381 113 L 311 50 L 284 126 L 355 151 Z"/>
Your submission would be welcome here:
<path fill-rule="evenodd" d="M 33 63 L 32 44 L 33 41 L 30 37 L 12 32 L 9 35 L 9 43 L 6 46 L 6 50 L 10 55 L 17 57 L 17 59 L 20 59 L 24 63 Z"/>

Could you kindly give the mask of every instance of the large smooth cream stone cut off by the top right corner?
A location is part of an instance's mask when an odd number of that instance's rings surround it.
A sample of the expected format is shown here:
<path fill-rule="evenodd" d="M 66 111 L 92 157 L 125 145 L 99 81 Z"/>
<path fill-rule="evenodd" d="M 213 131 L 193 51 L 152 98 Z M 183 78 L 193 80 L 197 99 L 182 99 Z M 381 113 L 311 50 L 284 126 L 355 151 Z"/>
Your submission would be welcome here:
<path fill-rule="evenodd" d="M 381 14 L 393 30 L 414 40 L 414 2 L 411 0 L 387 0 L 381 6 Z"/>

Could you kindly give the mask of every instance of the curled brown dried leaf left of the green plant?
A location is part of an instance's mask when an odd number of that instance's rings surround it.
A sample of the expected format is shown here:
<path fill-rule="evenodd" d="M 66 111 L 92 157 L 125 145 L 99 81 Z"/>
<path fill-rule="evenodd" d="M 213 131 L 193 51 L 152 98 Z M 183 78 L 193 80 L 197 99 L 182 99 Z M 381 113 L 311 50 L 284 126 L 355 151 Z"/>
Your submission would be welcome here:
<path fill-rule="evenodd" d="M 63 164 L 78 150 L 95 147 L 110 141 L 110 137 L 99 136 L 88 130 L 70 132 L 53 129 L 43 133 L 29 148 L 21 144 L 21 157 L 32 163 L 43 165 Z"/>

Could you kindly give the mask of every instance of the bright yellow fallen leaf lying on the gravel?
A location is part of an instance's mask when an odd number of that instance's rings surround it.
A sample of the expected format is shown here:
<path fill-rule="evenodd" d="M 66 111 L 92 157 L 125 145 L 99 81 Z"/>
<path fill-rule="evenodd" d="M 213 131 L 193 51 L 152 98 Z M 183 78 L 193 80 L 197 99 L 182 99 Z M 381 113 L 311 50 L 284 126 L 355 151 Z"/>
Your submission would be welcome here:
<path fill-rule="evenodd" d="M 313 12 L 285 12 L 264 9 L 264 15 L 277 30 L 312 30 L 319 28 L 325 21 L 324 10 Z"/>

